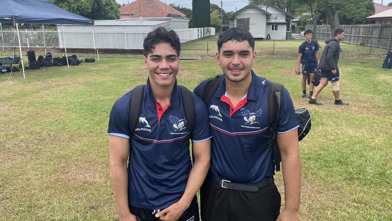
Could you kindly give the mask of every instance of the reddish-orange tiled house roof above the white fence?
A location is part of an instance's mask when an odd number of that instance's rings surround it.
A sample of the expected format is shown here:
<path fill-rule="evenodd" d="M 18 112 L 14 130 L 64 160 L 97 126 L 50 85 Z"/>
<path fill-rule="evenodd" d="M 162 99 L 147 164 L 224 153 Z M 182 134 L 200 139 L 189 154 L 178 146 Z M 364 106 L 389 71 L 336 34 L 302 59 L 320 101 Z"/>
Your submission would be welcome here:
<path fill-rule="evenodd" d="M 185 14 L 160 0 L 136 0 L 119 8 L 120 18 L 187 18 Z"/>

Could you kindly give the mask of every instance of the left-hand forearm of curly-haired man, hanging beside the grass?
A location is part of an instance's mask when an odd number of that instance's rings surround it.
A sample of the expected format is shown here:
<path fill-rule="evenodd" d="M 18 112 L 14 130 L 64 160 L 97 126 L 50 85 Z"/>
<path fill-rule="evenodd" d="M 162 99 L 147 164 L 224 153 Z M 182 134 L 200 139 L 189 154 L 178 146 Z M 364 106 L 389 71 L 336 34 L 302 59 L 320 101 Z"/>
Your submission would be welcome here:
<path fill-rule="evenodd" d="M 117 204 L 117 212 L 121 217 L 122 215 L 130 213 L 128 206 L 127 163 L 111 163 L 110 172 L 112 190 Z"/>

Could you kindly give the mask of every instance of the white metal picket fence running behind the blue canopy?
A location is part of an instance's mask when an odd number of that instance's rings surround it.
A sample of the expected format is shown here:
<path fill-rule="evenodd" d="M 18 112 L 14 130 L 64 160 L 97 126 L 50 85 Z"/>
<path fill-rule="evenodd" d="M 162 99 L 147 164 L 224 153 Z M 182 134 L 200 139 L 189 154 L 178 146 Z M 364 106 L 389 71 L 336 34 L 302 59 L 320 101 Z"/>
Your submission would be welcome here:
<path fill-rule="evenodd" d="M 189 28 L 174 30 L 181 42 L 215 35 L 215 28 Z M 22 47 L 44 48 L 108 48 L 143 49 L 148 31 L 92 31 L 92 30 L 20 30 Z M 2 29 L 0 46 L 17 47 L 16 30 Z"/>

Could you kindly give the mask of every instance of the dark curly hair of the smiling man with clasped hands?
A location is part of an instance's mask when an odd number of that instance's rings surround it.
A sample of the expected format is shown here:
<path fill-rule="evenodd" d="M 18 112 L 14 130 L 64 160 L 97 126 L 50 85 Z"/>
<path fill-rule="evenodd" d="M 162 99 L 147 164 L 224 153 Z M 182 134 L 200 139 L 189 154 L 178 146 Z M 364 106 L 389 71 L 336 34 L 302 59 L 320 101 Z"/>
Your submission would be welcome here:
<path fill-rule="evenodd" d="M 168 30 L 163 27 L 159 27 L 154 31 L 147 34 L 147 37 L 143 42 L 144 57 L 147 58 L 149 53 L 153 53 L 155 45 L 161 42 L 169 43 L 176 50 L 177 56 L 180 56 L 181 43 L 177 33 L 173 30 Z"/>

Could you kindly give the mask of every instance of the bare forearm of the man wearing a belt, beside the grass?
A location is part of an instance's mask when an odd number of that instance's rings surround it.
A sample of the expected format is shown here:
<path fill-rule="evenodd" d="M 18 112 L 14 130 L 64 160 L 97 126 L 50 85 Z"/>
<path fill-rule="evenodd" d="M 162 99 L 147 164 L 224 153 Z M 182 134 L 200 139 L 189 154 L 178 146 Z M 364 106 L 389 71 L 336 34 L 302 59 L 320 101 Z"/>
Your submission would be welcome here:
<path fill-rule="evenodd" d="M 285 186 L 285 209 L 298 212 L 301 192 L 301 159 L 298 152 L 281 154 L 281 158 Z"/>

